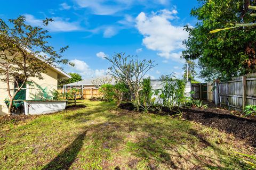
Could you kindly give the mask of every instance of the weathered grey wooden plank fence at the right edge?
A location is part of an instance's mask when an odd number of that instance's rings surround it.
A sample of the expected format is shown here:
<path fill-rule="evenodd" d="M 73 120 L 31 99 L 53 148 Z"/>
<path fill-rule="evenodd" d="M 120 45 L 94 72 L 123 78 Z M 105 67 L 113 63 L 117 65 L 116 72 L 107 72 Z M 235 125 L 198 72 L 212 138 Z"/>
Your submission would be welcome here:
<path fill-rule="evenodd" d="M 216 105 L 240 111 L 246 105 L 256 105 L 256 73 L 227 82 L 215 82 L 213 100 Z"/>

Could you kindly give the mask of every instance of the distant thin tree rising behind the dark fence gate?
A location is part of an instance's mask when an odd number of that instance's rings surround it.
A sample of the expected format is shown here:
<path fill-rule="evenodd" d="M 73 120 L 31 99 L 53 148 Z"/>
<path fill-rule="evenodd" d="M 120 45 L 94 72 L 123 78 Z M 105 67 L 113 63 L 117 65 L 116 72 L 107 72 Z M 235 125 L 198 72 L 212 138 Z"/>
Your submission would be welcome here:
<path fill-rule="evenodd" d="M 196 81 L 195 67 L 196 67 L 196 63 L 194 61 L 188 60 L 187 63 L 185 63 L 182 67 L 182 69 L 184 70 L 183 79 L 187 80 L 187 75 L 188 75 L 189 80 Z M 187 74 L 187 71 L 188 71 L 188 74 Z"/>

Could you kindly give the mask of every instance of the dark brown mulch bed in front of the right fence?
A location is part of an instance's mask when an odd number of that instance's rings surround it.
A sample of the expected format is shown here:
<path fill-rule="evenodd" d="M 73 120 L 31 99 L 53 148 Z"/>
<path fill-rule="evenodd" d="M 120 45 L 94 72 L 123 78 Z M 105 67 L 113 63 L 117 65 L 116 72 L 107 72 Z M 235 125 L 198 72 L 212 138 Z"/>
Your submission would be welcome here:
<path fill-rule="evenodd" d="M 119 108 L 132 111 L 134 106 L 130 103 L 124 103 Z M 179 108 L 183 113 L 182 118 L 194 121 L 220 131 L 233 134 L 239 139 L 244 139 L 253 147 L 256 147 L 256 120 L 255 118 L 244 118 L 233 115 L 233 111 L 221 108 Z M 175 108 L 174 110 L 178 110 Z M 163 108 L 164 114 L 177 114 Z"/>

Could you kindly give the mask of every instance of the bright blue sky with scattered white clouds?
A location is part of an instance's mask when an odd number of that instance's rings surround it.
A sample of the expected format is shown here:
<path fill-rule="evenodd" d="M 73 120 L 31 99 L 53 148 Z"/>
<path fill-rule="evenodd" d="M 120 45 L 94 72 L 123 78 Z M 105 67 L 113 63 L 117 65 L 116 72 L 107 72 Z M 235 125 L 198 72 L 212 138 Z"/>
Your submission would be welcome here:
<path fill-rule="evenodd" d="M 4 20 L 27 17 L 27 23 L 42 25 L 41 20 L 52 18 L 48 25 L 56 49 L 69 46 L 65 57 L 76 66 L 64 66 L 66 72 L 77 72 L 83 78 L 102 76 L 110 64 L 103 59 L 114 53 L 129 55 L 158 64 L 148 72 L 157 79 L 161 74 L 182 75 L 180 60 L 182 40 L 188 37 L 183 25 L 195 25 L 190 10 L 196 0 L 69 0 L 1 2 L 0 17 Z"/>

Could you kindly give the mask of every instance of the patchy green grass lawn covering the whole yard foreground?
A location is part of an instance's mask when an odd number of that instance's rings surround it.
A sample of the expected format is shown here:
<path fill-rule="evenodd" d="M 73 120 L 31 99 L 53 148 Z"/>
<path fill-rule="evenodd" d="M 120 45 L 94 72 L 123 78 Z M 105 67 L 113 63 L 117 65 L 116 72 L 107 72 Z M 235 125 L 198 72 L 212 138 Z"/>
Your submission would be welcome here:
<path fill-rule="evenodd" d="M 0 169 L 238 169 L 244 141 L 170 116 L 85 108 L 0 124 Z"/>

